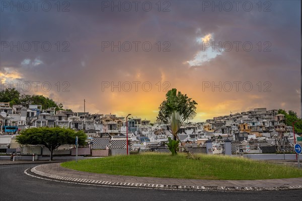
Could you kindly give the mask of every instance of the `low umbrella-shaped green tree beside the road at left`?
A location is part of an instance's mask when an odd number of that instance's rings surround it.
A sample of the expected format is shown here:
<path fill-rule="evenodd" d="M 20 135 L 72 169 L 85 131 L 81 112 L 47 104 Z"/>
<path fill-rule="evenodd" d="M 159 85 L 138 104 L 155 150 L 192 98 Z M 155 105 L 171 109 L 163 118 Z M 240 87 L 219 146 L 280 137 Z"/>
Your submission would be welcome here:
<path fill-rule="evenodd" d="M 87 135 L 83 131 L 75 132 L 71 129 L 64 128 L 31 128 L 21 131 L 18 135 L 17 142 L 20 144 L 44 145 L 50 151 L 50 160 L 52 152 L 63 144 L 74 144 L 75 136 L 78 136 L 79 145 L 85 145 Z"/>

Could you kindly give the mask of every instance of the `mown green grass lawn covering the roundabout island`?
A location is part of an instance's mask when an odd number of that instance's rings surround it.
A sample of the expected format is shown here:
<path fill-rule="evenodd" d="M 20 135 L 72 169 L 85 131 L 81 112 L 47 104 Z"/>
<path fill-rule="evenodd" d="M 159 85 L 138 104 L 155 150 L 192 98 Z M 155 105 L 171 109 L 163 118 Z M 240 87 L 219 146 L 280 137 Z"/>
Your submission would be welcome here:
<path fill-rule="evenodd" d="M 302 177 L 302 170 L 252 159 L 198 155 L 199 160 L 185 154 L 144 153 L 111 156 L 62 163 L 62 167 L 115 175 L 189 179 L 272 179 Z"/>

